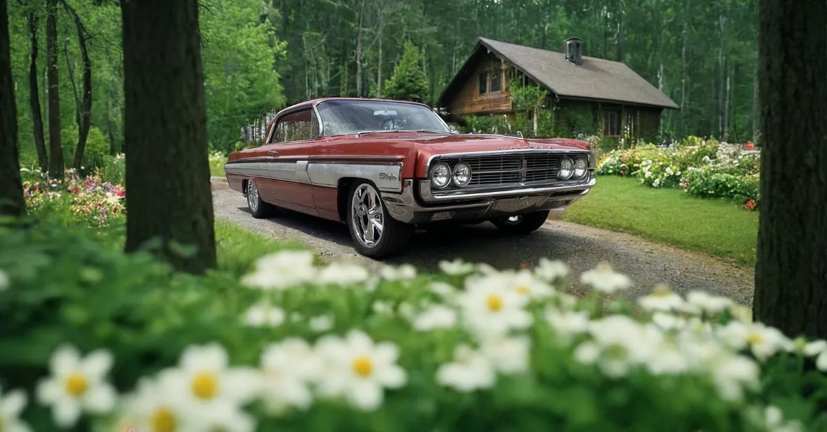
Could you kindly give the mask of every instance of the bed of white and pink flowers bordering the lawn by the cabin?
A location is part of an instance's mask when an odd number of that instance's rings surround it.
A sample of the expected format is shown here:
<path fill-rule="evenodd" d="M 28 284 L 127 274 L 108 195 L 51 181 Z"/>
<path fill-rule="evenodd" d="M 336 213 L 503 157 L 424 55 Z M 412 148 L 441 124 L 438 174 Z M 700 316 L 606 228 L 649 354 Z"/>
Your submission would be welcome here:
<path fill-rule="evenodd" d="M 760 161 L 749 149 L 689 137 L 671 147 L 614 150 L 604 155 L 597 172 L 636 177 L 653 188 L 684 188 L 697 197 L 733 198 L 754 210 Z"/>

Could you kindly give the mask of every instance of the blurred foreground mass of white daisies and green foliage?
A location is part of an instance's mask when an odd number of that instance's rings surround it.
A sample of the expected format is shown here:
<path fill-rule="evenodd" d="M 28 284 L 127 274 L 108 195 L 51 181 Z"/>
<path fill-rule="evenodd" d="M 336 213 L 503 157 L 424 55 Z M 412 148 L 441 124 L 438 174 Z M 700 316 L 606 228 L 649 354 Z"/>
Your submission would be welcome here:
<path fill-rule="evenodd" d="M 701 291 L 626 301 L 606 263 L 368 272 L 289 250 L 191 276 L 46 232 L 0 228 L 3 431 L 827 425 L 827 342 Z"/>

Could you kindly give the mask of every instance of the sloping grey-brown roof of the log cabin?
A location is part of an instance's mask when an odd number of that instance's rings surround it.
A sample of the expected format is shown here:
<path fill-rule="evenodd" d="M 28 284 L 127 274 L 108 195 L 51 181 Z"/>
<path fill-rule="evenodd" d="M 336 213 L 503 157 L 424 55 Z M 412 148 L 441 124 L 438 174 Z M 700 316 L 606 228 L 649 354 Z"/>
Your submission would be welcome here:
<path fill-rule="evenodd" d="M 477 65 L 492 53 L 514 66 L 557 97 L 592 99 L 650 107 L 677 109 L 677 104 L 622 62 L 583 56 L 572 64 L 557 51 L 540 50 L 480 37 L 471 56 L 448 83 L 437 102 L 445 107 Z"/>

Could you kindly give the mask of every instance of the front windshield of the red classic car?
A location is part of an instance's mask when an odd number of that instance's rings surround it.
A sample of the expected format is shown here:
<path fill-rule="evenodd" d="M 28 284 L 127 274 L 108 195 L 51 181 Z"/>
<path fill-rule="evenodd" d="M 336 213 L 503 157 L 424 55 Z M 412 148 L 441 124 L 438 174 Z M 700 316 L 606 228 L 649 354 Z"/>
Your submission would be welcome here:
<path fill-rule="evenodd" d="M 452 133 L 435 112 L 415 103 L 332 100 L 320 102 L 316 109 L 323 135 L 382 131 Z"/>

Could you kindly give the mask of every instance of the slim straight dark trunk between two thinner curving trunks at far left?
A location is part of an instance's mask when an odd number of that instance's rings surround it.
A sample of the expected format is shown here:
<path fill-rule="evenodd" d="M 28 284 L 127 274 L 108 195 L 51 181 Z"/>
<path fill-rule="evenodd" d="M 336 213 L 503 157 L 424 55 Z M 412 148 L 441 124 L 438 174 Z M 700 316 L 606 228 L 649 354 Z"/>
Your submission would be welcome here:
<path fill-rule="evenodd" d="M 60 79 L 57 72 L 57 2 L 46 0 L 46 87 L 49 88 L 49 177 L 63 178 L 60 144 Z"/>

